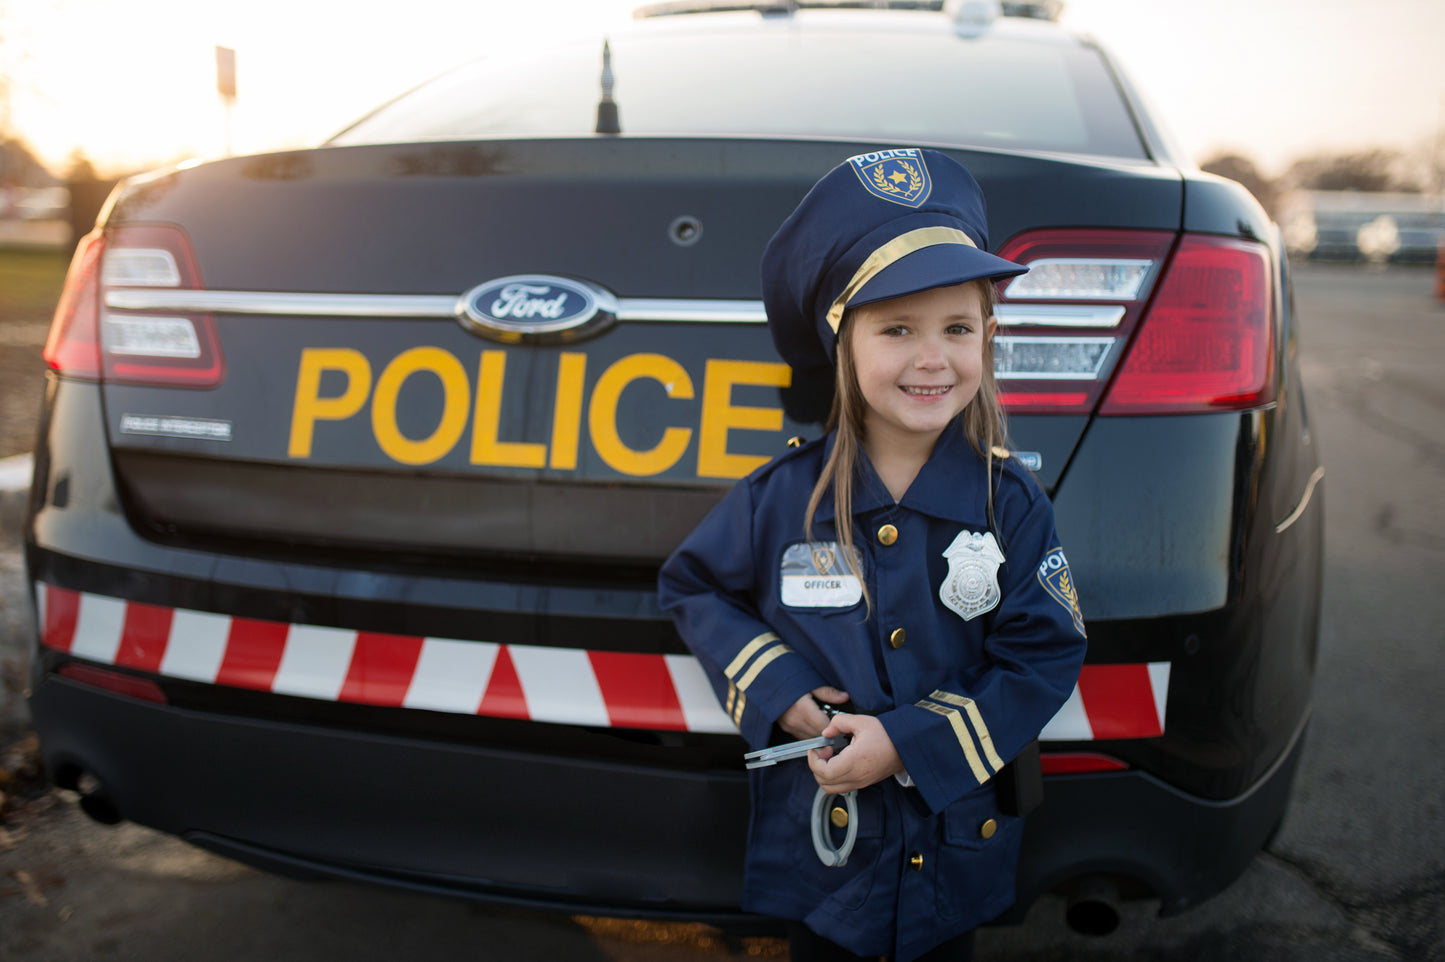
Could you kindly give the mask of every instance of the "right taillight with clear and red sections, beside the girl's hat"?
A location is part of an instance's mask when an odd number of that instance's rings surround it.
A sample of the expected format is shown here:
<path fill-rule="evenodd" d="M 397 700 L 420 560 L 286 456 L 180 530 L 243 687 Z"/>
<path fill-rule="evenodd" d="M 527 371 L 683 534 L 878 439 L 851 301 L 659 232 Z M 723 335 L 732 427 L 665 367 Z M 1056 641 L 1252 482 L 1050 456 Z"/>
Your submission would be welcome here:
<path fill-rule="evenodd" d="M 1010 412 L 1170 415 L 1273 400 L 1263 244 L 1048 230 L 998 253 L 1030 267 L 1003 287 L 997 311 L 994 370 Z"/>

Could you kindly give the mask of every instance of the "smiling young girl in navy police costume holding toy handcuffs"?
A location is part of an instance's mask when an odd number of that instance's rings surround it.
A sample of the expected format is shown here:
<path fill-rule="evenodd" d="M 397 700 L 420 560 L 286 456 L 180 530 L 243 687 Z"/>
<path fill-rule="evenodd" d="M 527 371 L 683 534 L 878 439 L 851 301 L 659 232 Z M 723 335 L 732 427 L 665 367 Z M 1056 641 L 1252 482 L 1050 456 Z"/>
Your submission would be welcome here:
<path fill-rule="evenodd" d="M 763 298 L 795 370 L 834 367 L 828 435 L 740 481 L 659 578 L 750 747 L 851 738 L 751 771 L 743 906 L 793 923 L 795 959 L 971 958 L 1014 898 L 997 776 L 1084 659 L 1052 507 L 1000 446 L 991 282 L 1026 269 L 985 247 L 941 153 L 814 186 Z"/>

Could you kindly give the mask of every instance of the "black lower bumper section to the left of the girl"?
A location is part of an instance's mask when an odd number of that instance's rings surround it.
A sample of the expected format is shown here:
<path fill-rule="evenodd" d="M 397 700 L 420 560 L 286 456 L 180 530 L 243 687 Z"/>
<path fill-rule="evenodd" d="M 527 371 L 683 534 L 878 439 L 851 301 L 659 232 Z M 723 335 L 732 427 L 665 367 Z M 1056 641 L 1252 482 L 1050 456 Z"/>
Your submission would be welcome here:
<path fill-rule="evenodd" d="M 613 916 L 737 914 L 747 780 L 195 712 L 49 676 L 62 784 L 286 874 Z"/>

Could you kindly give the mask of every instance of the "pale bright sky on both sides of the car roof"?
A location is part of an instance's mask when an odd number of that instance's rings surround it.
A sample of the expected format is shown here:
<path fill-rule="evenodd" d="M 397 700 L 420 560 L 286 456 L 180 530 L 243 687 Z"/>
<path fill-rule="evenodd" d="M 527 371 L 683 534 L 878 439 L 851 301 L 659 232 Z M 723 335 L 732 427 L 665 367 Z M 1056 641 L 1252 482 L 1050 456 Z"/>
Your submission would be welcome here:
<path fill-rule="evenodd" d="M 636 0 L 0 0 L 0 127 L 58 173 L 318 143 L 488 51 L 590 33 Z M 1445 0 L 1065 0 L 1196 159 L 1266 175 L 1445 137 Z M 215 91 L 237 51 L 238 97 Z M 0 91 L 3 92 L 3 91 Z"/>

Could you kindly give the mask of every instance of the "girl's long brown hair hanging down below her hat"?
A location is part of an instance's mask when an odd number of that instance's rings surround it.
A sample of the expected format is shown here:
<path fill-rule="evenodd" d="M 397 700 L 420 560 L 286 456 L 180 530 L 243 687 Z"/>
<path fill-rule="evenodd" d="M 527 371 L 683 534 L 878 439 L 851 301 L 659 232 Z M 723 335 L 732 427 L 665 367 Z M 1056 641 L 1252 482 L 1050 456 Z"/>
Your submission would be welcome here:
<path fill-rule="evenodd" d="M 971 282 L 978 290 L 984 324 L 994 315 L 996 293 L 991 280 Z M 832 410 L 828 413 L 828 430 L 837 430 L 832 442 L 832 452 L 818 474 L 818 482 L 808 497 L 808 507 L 803 513 L 803 537 L 812 540 L 814 516 L 822 503 L 828 488 L 832 488 L 834 526 L 838 530 L 838 543 L 842 547 L 844 563 L 858 578 L 863 586 L 863 599 L 873 608 L 873 598 L 868 597 L 868 582 L 858 569 L 855 542 L 853 537 L 853 481 L 858 468 L 858 452 L 863 449 L 864 419 L 868 404 L 858 387 L 858 370 L 853 358 L 853 311 L 842 315 L 838 325 L 837 363 L 834 364 L 834 394 Z M 987 334 L 987 331 L 985 331 Z M 968 445 L 984 459 L 988 477 L 988 527 L 997 529 L 993 513 L 993 462 L 994 452 L 1007 449 L 1007 420 L 1003 406 L 998 403 L 998 383 L 994 378 L 993 338 L 985 337 L 983 345 L 983 377 L 978 381 L 978 393 L 974 396 L 962 413 L 964 436 Z"/>

